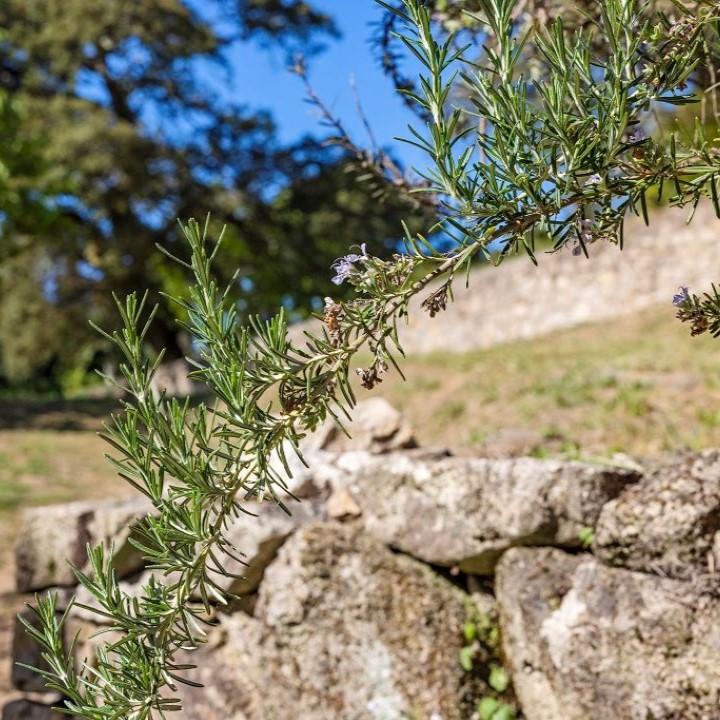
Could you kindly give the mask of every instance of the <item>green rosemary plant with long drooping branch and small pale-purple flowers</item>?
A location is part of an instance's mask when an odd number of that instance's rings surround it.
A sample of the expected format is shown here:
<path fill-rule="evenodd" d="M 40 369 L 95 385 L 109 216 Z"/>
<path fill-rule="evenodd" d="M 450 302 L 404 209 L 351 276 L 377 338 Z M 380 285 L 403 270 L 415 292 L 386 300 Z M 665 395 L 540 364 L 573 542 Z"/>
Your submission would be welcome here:
<path fill-rule="evenodd" d="M 474 258 L 499 264 L 524 250 L 534 260 L 538 234 L 557 251 L 586 256 L 593 243 L 622 245 L 628 212 L 648 220 L 650 193 L 691 210 L 705 196 L 720 216 L 717 141 L 701 124 L 684 140 L 643 131 L 663 106 L 697 99 L 694 73 L 718 36 L 719 3 L 691 10 L 672 0 L 674 14 L 664 15 L 639 0 L 604 0 L 591 30 L 570 32 L 559 20 L 517 22 L 514 0 L 477 0 L 480 10 L 469 17 L 486 40 L 477 62 L 471 47 L 433 25 L 424 3 L 378 2 L 394 13 L 399 39 L 422 66 L 415 89 L 405 90 L 426 119 L 421 130 L 410 128 L 408 142 L 431 165 L 416 192 L 439 211 L 428 237 L 442 233 L 453 248 L 439 252 L 407 234 L 406 252 L 390 260 L 354 249 L 335 263 L 333 279 L 354 286 L 356 298 L 327 298 L 321 331 L 297 345 L 282 312 L 241 323 L 231 290 L 212 277 L 218 244 L 207 226 L 190 221 L 193 284 L 177 302 L 198 351 L 194 377 L 217 400 L 197 408 L 152 391 L 160 358 L 146 357 L 144 337 L 153 313 L 146 298 L 118 302 L 122 329 L 108 337 L 124 355 L 129 399 L 106 439 L 120 476 L 155 507 L 136 540 L 155 575 L 141 597 L 129 597 L 110 549 L 89 549 L 91 570 L 77 569 L 77 578 L 119 635 L 92 666 L 78 667 L 74 645 L 63 643 L 70 610 L 60 614 L 53 595 L 38 598 L 37 622 L 26 627 L 49 666 L 39 672 L 76 717 L 144 720 L 179 709 L 176 684 L 192 682 L 180 651 L 203 641 L 213 606 L 227 601 L 217 582 L 226 574 L 223 556 L 241 552 L 229 546 L 229 525 L 244 515 L 253 522 L 258 500 L 286 507 L 288 456 L 300 455 L 302 437 L 326 417 L 342 422 L 355 402 L 353 373 L 370 389 L 390 365 L 399 371 L 398 323 L 413 297 L 435 315 Z M 595 51 L 597 35 L 609 53 Z M 529 74 L 528 53 L 537 59 Z M 453 104 L 458 86 L 464 100 Z M 717 292 L 703 302 L 682 289 L 676 304 L 694 329 L 717 334 Z M 363 346 L 371 360 L 355 368 Z"/>

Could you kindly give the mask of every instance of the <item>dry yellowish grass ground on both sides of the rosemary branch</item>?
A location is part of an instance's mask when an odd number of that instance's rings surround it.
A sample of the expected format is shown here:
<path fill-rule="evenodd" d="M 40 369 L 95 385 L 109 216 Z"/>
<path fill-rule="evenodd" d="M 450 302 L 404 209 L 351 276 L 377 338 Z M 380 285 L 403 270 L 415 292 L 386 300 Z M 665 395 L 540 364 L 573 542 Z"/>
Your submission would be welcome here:
<path fill-rule="evenodd" d="M 547 439 L 548 451 L 559 440 L 596 454 L 720 445 L 720 341 L 690 338 L 671 307 L 408 358 L 403 369 L 407 382 L 391 372 L 374 392 L 407 413 L 422 444 L 478 451 L 498 432 L 524 428 Z M 0 422 L 6 518 L 29 505 L 128 493 L 96 434 L 113 404 L 13 403 L 15 420 Z M 6 407 L 0 416 L 10 416 Z"/>

